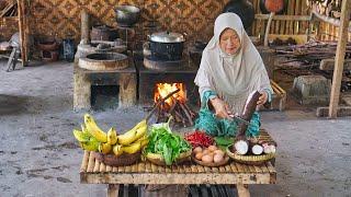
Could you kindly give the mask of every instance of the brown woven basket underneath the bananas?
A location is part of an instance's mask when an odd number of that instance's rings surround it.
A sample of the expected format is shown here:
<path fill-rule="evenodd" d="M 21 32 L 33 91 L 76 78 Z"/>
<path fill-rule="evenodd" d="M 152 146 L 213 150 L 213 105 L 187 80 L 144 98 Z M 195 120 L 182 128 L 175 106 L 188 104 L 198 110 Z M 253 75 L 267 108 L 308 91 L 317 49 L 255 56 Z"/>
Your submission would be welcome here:
<path fill-rule="evenodd" d="M 132 165 L 139 161 L 140 154 L 141 154 L 141 151 L 138 151 L 133 154 L 123 153 L 118 157 L 114 154 L 104 154 L 101 152 L 94 152 L 94 157 L 98 161 L 110 166 Z"/>

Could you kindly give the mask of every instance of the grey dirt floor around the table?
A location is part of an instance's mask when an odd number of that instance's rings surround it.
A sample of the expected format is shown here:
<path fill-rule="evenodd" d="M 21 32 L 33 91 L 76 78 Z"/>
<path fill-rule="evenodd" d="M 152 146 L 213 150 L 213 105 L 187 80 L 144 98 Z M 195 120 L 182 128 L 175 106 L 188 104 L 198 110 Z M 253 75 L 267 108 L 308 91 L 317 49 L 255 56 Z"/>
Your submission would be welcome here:
<path fill-rule="evenodd" d="M 105 185 L 79 183 L 83 151 L 71 131 L 83 112 L 72 111 L 72 66 L 5 72 L 0 61 L 0 196 L 105 196 Z M 351 196 L 351 119 L 316 118 L 314 107 L 292 106 L 262 113 L 262 126 L 279 143 L 278 184 L 250 186 L 251 195 Z M 123 131 L 145 112 L 92 114 L 103 129 Z"/>

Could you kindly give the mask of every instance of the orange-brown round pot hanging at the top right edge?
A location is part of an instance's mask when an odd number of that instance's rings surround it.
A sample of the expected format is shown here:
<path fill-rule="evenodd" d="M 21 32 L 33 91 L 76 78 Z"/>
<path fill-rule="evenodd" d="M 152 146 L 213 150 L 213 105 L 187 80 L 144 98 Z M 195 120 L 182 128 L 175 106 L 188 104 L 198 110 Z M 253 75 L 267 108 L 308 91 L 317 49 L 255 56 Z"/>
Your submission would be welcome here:
<path fill-rule="evenodd" d="M 286 8 L 287 0 L 260 0 L 260 10 L 264 14 L 268 14 L 270 12 L 283 14 Z"/>

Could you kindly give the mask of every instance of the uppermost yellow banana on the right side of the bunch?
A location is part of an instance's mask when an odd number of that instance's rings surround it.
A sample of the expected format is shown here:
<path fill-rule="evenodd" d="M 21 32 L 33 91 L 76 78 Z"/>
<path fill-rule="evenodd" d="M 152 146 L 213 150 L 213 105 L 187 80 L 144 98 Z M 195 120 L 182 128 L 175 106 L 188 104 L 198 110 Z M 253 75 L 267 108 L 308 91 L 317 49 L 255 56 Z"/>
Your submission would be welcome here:
<path fill-rule="evenodd" d="M 128 146 L 135 140 L 143 137 L 146 134 L 146 131 L 147 131 L 147 123 L 144 119 L 127 132 L 117 136 L 117 143 L 123 146 Z"/>

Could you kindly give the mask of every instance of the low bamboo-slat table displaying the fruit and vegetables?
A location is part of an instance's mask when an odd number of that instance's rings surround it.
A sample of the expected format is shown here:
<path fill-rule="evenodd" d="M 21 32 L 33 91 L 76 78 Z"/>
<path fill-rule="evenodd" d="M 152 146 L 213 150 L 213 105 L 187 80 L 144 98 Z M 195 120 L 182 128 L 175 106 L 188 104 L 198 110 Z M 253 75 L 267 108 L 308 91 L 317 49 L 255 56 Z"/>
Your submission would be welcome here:
<path fill-rule="evenodd" d="M 273 141 L 265 130 L 260 140 Z M 249 184 L 275 184 L 276 171 L 271 162 L 263 165 L 246 165 L 230 161 L 220 167 L 206 167 L 194 163 L 158 166 L 150 162 L 138 162 L 128 166 L 112 167 L 100 163 L 94 154 L 84 151 L 80 167 L 80 183 L 107 184 L 107 196 L 116 196 L 123 184 L 235 184 L 238 195 L 250 196 Z"/>

